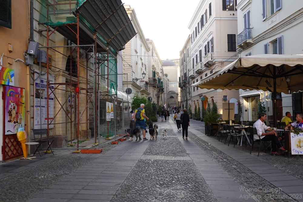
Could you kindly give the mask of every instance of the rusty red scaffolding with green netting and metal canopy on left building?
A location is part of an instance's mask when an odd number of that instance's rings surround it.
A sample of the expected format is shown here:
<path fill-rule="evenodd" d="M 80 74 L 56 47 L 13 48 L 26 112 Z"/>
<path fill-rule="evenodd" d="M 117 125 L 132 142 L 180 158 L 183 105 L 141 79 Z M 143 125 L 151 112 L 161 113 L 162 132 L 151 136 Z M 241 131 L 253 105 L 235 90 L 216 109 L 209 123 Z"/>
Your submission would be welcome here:
<path fill-rule="evenodd" d="M 94 14 L 101 5 L 98 19 L 102 22 L 96 26 L 87 12 Z M 46 32 L 46 46 L 38 52 L 39 75 L 35 77 L 40 79 L 35 81 L 34 94 L 40 121 L 35 118 L 34 127 L 46 128 L 48 136 L 67 138 L 71 147 L 77 139 L 77 149 L 96 146 L 97 139 L 100 145 L 123 135 L 128 125 L 123 118 L 124 103 L 129 103 L 117 97 L 117 52 L 136 33 L 121 0 L 42 0 L 39 21 L 46 28 L 39 29 L 41 35 Z M 55 31 L 67 39 L 66 45 L 50 45 Z M 105 102 L 114 104 L 113 120 L 104 119 Z M 86 144 L 79 141 L 91 137 L 93 141 Z"/>

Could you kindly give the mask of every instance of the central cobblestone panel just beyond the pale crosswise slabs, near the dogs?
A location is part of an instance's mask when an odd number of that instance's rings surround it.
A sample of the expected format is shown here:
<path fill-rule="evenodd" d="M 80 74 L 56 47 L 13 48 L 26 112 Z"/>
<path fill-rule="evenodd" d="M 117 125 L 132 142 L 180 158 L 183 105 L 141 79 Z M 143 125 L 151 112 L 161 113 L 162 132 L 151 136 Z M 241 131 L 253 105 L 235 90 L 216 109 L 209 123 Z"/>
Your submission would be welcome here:
<path fill-rule="evenodd" d="M 172 135 L 174 133 L 173 130 L 167 132 L 167 134 Z M 186 149 L 183 147 L 182 143 L 179 141 L 178 137 L 162 137 L 158 135 L 157 141 L 152 141 L 143 155 L 158 155 L 158 156 L 178 156 L 184 157 L 188 156 Z"/>

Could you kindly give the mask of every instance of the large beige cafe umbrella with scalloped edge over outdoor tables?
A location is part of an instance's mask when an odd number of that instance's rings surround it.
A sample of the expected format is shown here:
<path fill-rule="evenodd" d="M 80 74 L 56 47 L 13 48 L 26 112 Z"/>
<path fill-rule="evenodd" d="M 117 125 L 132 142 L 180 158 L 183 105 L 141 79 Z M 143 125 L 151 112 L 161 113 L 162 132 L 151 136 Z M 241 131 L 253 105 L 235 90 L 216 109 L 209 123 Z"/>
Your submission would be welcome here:
<path fill-rule="evenodd" d="M 274 94 L 276 125 L 276 94 L 303 90 L 303 55 L 263 54 L 238 58 L 192 86 L 206 89 L 249 89 Z"/>

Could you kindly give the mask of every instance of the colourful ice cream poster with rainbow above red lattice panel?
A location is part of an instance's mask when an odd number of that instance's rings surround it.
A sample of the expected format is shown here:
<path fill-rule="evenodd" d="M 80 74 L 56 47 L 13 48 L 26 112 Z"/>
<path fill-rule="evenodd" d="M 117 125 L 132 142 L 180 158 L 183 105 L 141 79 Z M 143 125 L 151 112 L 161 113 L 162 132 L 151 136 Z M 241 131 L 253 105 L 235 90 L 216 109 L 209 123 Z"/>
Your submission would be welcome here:
<path fill-rule="evenodd" d="M 16 134 L 19 127 L 24 128 L 25 89 L 5 86 L 5 135 Z"/>

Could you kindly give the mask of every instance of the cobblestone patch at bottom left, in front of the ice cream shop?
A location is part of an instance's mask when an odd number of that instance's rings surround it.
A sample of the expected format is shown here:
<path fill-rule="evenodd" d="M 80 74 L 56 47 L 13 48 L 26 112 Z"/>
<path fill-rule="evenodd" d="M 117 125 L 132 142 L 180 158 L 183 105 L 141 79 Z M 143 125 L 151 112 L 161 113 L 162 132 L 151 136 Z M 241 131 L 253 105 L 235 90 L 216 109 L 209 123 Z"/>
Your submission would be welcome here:
<path fill-rule="evenodd" d="M 0 201 L 26 201 L 95 158 L 48 158 L 46 162 L 0 180 Z"/>

